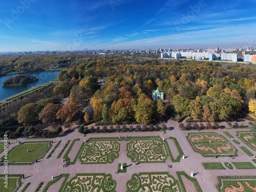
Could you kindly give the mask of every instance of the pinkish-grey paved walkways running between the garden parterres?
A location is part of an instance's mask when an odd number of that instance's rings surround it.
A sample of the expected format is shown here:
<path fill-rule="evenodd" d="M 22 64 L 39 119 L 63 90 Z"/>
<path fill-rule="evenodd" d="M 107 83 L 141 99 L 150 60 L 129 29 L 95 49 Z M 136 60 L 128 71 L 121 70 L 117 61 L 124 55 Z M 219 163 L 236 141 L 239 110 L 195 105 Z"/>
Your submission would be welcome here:
<path fill-rule="evenodd" d="M 225 124 L 225 123 L 223 123 Z M 239 122 L 241 124 L 241 122 Z M 243 124 L 246 126 L 248 125 L 248 121 L 243 122 Z M 203 191 L 211 191 L 215 192 L 218 191 L 216 188 L 217 176 L 246 176 L 246 175 L 255 175 L 255 170 L 253 169 L 239 169 L 237 170 L 234 166 L 234 169 L 225 169 L 225 170 L 205 170 L 202 166 L 202 162 L 221 162 L 224 165 L 224 162 L 251 162 L 251 157 L 246 155 L 242 150 L 240 150 L 239 146 L 246 146 L 249 151 L 255 154 L 254 151 L 252 151 L 247 145 L 245 145 L 239 138 L 236 137 L 236 131 L 249 131 L 249 129 L 219 129 L 219 130 L 206 130 L 203 132 L 216 132 L 220 135 L 223 135 L 231 144 L 233 144 L 238 150 L 239 157 L 236 157 L 234 159 L 231 159 L 229 157 L 221 157 L 218 159 L 215 158 L 204 158 L 199 153 L 195 153 L 190 146 L 188 140 L 186 139 L 186 136 L 189 132 L 195 132 L 199 133 L 199 131 L 182 131 L 179 130 L 179 124 L 175 121 L 169 120 L 166 122 L 167 127 L 174 127 L 174 130 L 172 131 L 166 131 L 166 134 L 164 134 L 162 131 L 159 132 L 129 132 L 129 133 L 100 133 L 100 134 L 87 134 L 86 137 L 83 137 L 83 134 L 79 134 L 77 132 L 77 127 L 74 127 L 70 131 L 66 131 L 65 133 L 61 134 L 59 137 L 55 139 L 29 139 L 26 140 L 25 138 L 19 138 L 16 140 L 10 140 L 11 144 L 9 146 L 9 149 L 11 149 L 13 146 L 18 145 L 18 141 L 24 142 L 24 141 L 40 141 L 40 140 L 53 140 L 53 147 L 57 144 L 59 140 L 61 140 L 60 145 L 56 148 L 55 152 L 52 154 L 52 157 L 49 159 L 46 159 L 48 154 L 52 151 L 51 150 L 46 154 L 44 159 L 39 160 L 39 162 L 34 163 L 33 165 L 9 165 L 8 167 L 8 174 L 24 174 L 25 179 L 22 179 L 22 182 L 24 183 L 22 187 L 19 188 L 18 191 L 21 191 L 23 187 L 26 185 L 26 183 L 31 182 L 28 189 L 26 191 L 35 191 L 36 187 L 40 182 L 45 182 L 42 186 L 42 189 L 46 186 L 46 184 L 52 180 L 52 174 L 54 177 L 69 173 L 70 177 L 68 181 L 74 177 L 77 173 L 105 173 L 105 174 L 111 174 L 113 176 L 113 179 L 117 182 L 117 192 L 123 192 L 126 191 L 126 182 L 132 178 L 132 174 L 134 173 L 140 173 L 140 172 L 168 172 L 170 175 L 173 175 L 176 179 L 178 179 L 176 172 L 177 171 L 184 171 L 186 174 L 190 175 L 191 171 L 193 173 L 197 173 L 195 178 L 198 180 L 201 188 Z M 129 127 L 129 126 L 127 126 Z M 135 127 L 135 125 L 134 125 Z M 90 128 L 90 127 L 89 127 Z M 229 132 L 236 140 L 240 141 L 240 145 L 237 145 L 232 142 L 232 139 L 229 139 L 223 131 Z M 168 137 L 175 137 L 177 138 L 185 156 L 187 156 L 186 159 L 181 159 L 181 162 L 173 163 L 171 162 L 170 158 L 167 158 L 166 163 L 140 163 L 139 165 L 135 165 L 131 161 L 130 158 L 127 157 L 126 152 L 126 144 L 127 141 L 118 141 L 120 143 L 120 152 L 119 157 L 114 160 L 112 164 L 81 164 L 79 159 L 76 161 L 74 165 L 69 165 L 68 167 L 63 167 L 62 165 L 65 162 L 61 162 L 62 157 L 65 155 L 66 151 L 68 150 L 70 144 L 72 141 L 76 138 L 80 138 L 80 141 L 78 144 L 75 144 L 72 148 L 72 151 L 78 151 L 79 146 L 81 146 L 82 142 L 84 142 L 84 139 L 89 139 L 90 137 L 126 137 L 126 136 L 160 136 L 161 138 L 164 136 L 166 140 L 168 141 Z M 57 156 L 59 152 L 62 150 L 63 143 L 67 143 L 68 140 L 71 140 L 69 146 L 66 148 L 65 152 L 61 155 L 59 159 L 57 159 Z M 173 142 L 168 141 L 168 144 L 171 145 L 170 148 L 174 148 L 175 146 Z M 175 152 L 174 152 L 175 153 Z M 74 152 L 70 154 L 76 154 Z M 177 154 L 177 153 L 176 153 Z M 0 157 L 3 156 L 3 152 L 0 154 Z M 71 159 L 74 159 L 74 157 L 71 157 Z M 127 165 L 131 165 L 127 167 L 126 173 L 119 173 L 114 174 L 115 169 L 118 167 L 118 163 L 126 163 Z M 172 168 L 168 168 L 167 164 L 173 165 Z M 256 164 L 255 164 L 256 165 Z M 0 166 L 0 174 L 4 173 L 4 166 Z M 185 186 L 191 186 L 190 181 L 184 180 Z M 42 191 L 42 189 L 40 191 Z M 57 191 L 57 189 L 53 189 L 51 187 L 51 190 Z M 195 191 L 195 189 L 187 189 L 187 191 Z M 49 192 L 49 191 L 48 191 Z"/>

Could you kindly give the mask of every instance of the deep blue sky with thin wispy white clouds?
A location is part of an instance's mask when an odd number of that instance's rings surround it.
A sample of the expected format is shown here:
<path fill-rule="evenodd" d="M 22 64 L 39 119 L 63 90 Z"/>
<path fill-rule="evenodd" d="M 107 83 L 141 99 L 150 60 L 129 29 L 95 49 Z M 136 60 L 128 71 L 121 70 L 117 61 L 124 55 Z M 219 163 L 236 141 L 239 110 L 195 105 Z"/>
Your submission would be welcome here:
<path fill-rule="evenodd" d="M 12 0 L 0 7 L 0 51 L 256 47 L 254 0 Z"/>

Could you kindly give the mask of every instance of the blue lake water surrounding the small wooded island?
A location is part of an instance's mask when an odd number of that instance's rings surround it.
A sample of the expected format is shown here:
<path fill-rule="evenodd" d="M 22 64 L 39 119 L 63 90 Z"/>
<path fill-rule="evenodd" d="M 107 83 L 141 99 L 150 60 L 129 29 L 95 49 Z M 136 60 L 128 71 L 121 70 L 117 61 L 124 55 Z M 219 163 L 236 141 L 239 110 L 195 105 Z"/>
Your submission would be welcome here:
<path fill-rule="evenodd" d="M 12 95 L 15 95 L 17 93 L 26 91 L 34 86 L 37 86 L 38 84 L 46 83 L 49 82 L 52 79 L 57 78 L 57 75 L 60 71 L 34 71 L 34 72 L 26 72 L 26 73 L 20 73 L 20 75 L 32 75 L 36 76 L 39 78 L 38 81 L 30 83 L 30 84 L 25 84 L 23 86 L 10 86 L 10 87 L 3 87 L 2 82 L 4 82 L 6 79 L 10 77 L 15 77 L 18 74 L 14 75 L 5 75 L 0 77 L 0 100 L 5 99 L 7 97 L 10 97 Z"/>

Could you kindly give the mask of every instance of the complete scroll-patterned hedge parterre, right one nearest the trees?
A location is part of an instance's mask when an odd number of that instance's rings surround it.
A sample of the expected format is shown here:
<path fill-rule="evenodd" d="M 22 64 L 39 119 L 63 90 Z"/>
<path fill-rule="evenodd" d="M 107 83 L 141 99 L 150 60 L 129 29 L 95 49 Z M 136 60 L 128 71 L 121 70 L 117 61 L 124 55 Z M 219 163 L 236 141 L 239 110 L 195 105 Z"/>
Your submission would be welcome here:
<path fill-rule="evenodd" d="M 168 157 L 166 145 L 160 139 L 132 139 L 127 152 L 127 157 L 140 163 L 165 162 Z"/>

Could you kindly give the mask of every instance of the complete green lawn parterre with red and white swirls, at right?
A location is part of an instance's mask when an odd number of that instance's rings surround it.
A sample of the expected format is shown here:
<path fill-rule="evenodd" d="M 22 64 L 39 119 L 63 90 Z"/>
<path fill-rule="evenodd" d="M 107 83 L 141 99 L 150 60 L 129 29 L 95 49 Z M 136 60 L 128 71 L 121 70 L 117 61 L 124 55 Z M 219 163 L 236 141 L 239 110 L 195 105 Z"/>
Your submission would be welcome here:
<path fill-rule="evenodd" d="M 225 137 L 216 133 L 188 133 L 187 139 L 194 151 L 204 157 L 237 156 L 237 149 Z"/>

